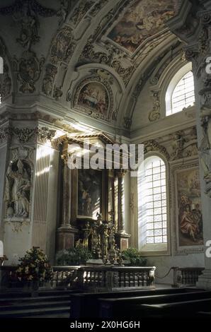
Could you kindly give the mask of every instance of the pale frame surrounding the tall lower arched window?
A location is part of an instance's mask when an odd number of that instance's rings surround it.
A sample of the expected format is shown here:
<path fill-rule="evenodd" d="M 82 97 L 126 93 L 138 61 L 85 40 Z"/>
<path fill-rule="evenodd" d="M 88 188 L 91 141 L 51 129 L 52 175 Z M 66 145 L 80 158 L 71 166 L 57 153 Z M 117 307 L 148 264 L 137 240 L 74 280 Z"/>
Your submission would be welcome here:
<path fill-rule="evenodd" d="M 150 157 L 158 157 L 161 158 L 161 160 L 164 161 L 164 165 L 166 167 L 166 222 L 167 222 L 167 231 L 166 231 L 166 237 L 167 237 L 167 243 L 159 243 L 159 244 L 147 244 L 147 237 L 141 236 L 142 234 L 142 220 L 139 220 L 141 218 L 139 216 L 140 212 L 140 197 L 139 197 L 139 177 L 137 178 L 137 234 L 138 234 L 138 248 L 139 251 L 142 253 L 143 256 L 163 256 L 163 255 L 171 255 L 171 232 L 170 232 L 170 185 L 169 185 L 169 162 L 166 160 L 164 155 L 162 155 L 159 152 L 154 153 L 149 152 L 146 155 L 144 155 L 144 162 Z M 140 166 L 140 170 L 142 172 L 144 167 L 144 162 Z"/>

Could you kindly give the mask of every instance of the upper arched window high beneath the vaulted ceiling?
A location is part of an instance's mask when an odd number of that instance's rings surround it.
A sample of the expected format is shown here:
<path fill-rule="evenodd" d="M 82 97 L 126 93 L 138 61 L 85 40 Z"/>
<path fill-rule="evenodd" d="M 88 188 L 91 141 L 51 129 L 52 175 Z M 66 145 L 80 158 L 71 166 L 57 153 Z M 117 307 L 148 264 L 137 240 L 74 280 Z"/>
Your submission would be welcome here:
<path fill-rule="evenodd" d="M 166 91 L 166 116 L 181 112 L 195 102 L 194 79 L 191 64 L 183 66 L 173 77 Z"/>

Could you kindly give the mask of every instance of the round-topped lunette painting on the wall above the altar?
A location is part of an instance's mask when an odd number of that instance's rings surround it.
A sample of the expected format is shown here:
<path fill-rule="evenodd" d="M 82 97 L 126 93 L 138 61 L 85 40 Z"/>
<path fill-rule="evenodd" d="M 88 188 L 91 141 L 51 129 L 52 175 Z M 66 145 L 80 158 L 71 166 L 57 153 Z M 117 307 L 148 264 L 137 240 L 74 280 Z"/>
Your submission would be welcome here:
<path fill-rule="evenodd" d="M 84 85 L 79 93 L 78 105 L 106 115 L 108 111 L 108 93 L 101 83 L 88 83 Z"/>

